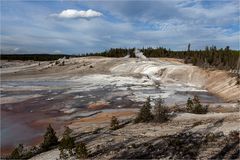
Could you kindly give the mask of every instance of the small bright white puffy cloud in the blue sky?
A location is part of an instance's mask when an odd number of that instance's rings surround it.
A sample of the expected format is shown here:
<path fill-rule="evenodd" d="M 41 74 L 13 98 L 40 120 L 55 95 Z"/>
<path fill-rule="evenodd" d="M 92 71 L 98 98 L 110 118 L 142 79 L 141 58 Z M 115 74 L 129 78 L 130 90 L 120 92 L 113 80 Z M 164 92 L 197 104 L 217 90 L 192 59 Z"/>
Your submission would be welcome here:
<path fill-rule="evenodd" d="M 66 9 L 63 10 L 59 14 L 52 14 L 52 17 L 57 17 L 61 19 L 78 19 L 78 18 L 85 18 L 85 19 L 90 19 L 90 18 L 95 18 L 95 17 L 100 17 L 103 14 L 101 12 L 94 11 L 92 9 L 89 10 L 75 10 L 75 9 Z"/>

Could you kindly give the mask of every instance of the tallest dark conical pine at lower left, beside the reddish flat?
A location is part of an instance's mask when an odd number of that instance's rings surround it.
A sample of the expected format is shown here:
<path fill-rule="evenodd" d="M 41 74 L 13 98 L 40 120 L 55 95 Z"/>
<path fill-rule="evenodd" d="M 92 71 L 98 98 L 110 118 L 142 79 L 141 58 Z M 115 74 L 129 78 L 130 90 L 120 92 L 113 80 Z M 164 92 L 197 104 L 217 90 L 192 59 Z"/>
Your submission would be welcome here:
<path fill-rule="evenodd" d="M 56 132 L 49 124 L 47 127 L 47 131 L 44 134 L 44 141 L 41 144 L 42 149 L 48 150 L 51 146 L 55 146 L 58 144 L 58 138 L 56 136 Z"/>

